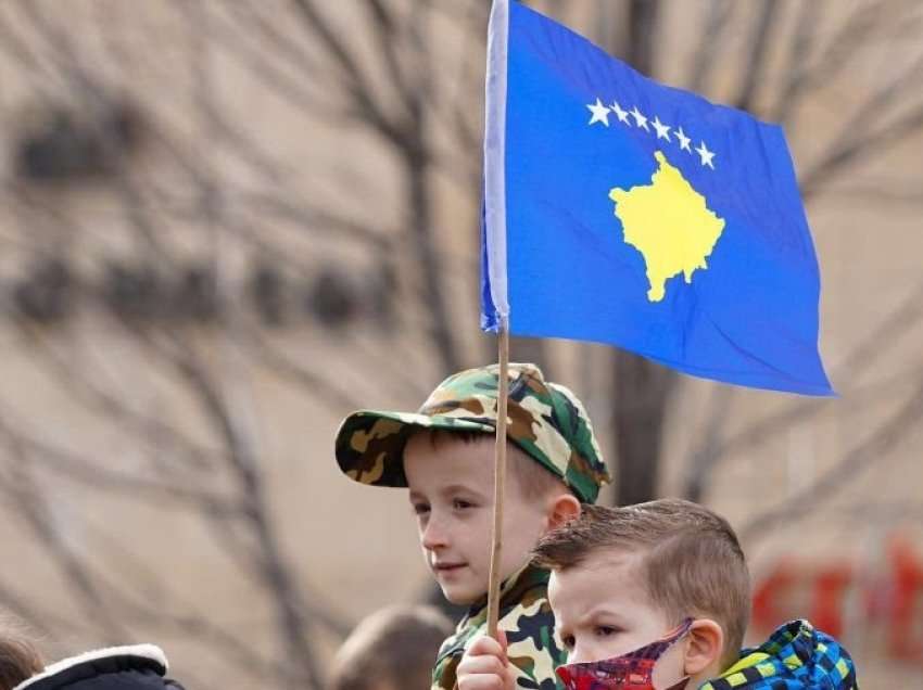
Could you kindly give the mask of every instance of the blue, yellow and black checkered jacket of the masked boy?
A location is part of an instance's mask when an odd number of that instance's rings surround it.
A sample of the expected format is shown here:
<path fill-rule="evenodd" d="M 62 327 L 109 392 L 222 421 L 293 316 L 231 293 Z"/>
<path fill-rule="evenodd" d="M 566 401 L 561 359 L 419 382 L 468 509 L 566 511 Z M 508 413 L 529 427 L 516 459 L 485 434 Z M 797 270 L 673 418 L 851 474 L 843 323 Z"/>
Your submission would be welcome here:
<path fill-rule="evenodd" d="M 807 621 L 780 627 L 759 647 L 699 690 L 859 690 L 852 659 Z"/>

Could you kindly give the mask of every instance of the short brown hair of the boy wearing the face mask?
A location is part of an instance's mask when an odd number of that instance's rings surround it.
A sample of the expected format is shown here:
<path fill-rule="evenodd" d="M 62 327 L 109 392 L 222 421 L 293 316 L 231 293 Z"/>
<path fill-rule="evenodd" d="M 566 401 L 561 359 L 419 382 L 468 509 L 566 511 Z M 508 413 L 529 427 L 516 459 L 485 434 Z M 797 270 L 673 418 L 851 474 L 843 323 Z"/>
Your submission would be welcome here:
<path fill-rule="evenodd" d="M 652 603 L 677 623 L 715 618 L 726 636 L 722 664 L 737 660 L 750 616 L 750 578 L 726 520 L 681 499 L 584 506 L 580 518 L 539 541 L 534 558 L 543 567 L 566 570 L 606 549 L 643 553 L 638 576 Z"/>

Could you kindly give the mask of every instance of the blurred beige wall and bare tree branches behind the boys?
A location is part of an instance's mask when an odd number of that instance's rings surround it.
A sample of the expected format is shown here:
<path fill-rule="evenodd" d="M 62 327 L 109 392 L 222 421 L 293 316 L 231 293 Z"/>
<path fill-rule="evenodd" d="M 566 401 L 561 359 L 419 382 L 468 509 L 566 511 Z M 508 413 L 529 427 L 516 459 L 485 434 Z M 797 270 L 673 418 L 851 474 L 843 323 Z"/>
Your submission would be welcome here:
<path fill-rule="evenodd" d="M 478 328 L 486 0 L 0 1 L 0 606 L 54 659 L 153 641 L 193 688 L 321 688 L 434 600 L 406 496 L 338 471 L 359 407 L 495 360 Z M 620 503 L 726 514 L 751 638 L 808 616 L 923 679 L 923 5 L 529 4 L 785 126 L 838 399 L 518 341 Z M 921 686 L 923 687 L 923 686 Z"/>

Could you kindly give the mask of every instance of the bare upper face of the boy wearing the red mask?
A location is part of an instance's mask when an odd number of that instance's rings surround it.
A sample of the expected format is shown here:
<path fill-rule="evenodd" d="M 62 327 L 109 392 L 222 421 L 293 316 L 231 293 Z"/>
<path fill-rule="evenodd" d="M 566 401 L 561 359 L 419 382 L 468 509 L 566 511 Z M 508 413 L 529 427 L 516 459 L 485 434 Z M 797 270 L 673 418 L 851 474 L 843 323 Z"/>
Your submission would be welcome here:
<path fill-rule="evenodd" d="M 621 656 L 677 626 L 648 600 L 638 575 L 641 559 L 637 552 L 607 549 L 552 573 L 548 601 L 569 664 Z M 675 682 L 684 675 L 681 648 L 675 644 L 660 657 L 655 680 Z"/>

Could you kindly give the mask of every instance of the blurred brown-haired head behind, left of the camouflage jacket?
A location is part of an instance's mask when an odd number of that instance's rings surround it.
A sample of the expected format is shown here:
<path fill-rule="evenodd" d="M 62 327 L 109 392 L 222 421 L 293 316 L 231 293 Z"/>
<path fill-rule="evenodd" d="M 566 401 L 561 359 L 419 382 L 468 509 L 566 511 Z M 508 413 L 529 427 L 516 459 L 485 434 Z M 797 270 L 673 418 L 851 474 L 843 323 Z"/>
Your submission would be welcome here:
<path fill-rule="evenodd" d="M 333 662 L 328 690 L 429 690 L 452 623 L 433 606 L 389 606 L 364 618 Z"/>

